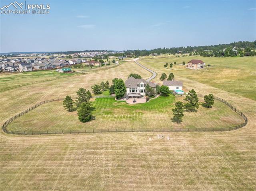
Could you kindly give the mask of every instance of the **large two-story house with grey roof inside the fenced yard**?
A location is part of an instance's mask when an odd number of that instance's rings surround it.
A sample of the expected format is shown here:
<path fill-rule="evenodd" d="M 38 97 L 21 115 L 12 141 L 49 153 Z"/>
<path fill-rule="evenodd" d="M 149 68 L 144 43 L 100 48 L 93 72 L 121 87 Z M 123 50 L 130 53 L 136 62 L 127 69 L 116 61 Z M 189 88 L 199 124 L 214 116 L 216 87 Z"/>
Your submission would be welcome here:
<path fill-rule="evenodd" d="M 134 77 L 128 78 L 125 81 L 126 99 L 144 97 L 146 94 L 146 85 L 149 85 L 152 88 L 156 88 L 157 84 L 153 82 L 147 82 L 144 79 L 136 79 Z"/>

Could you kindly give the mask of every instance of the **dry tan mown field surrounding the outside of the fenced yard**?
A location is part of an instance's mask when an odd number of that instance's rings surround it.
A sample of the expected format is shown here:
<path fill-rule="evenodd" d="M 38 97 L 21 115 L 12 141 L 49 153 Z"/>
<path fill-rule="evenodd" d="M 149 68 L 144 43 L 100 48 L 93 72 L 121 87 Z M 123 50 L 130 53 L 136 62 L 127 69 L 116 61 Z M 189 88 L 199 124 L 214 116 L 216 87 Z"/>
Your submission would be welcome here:
<path fill-rule="evenodd" d="M 158 76 L 164 70 L 143 64 Z M 2 92 L 0 122 L 42 100 L 75 96 L 80 87 L 90 89 L 94 83 L 126 79 L 134 72 L 150 77 L 134 62 L 125 62 Z M 231 132 L 162 133 L 164 139 L 158 139 L 158 133 L 14 136 L 1 132 L 1 190 L 255 190 L 256 101 L 187 79 L 185 74 L 178 79 L 186 89 L 228 100 L 244 112 L 248 124 Z M 42 115 L 49 112 L 43 106 L 37 109 Z"/>

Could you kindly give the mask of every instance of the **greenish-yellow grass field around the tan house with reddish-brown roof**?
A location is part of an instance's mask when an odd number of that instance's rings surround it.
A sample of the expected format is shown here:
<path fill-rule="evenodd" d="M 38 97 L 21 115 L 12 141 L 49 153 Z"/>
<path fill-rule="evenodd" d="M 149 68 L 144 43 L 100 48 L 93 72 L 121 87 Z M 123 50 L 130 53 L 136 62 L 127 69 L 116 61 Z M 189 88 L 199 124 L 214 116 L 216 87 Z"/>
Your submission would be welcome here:
<path fill-rule="evenodd" d="M 182 64 L 187 63 L 191 59 L 201 59 L 206 63 L 205 69 L 191 70 L 185 66 L 175 65 L 173 70 L 164 68 L 164 63 L 150 62 L 168 62 Z M 158 73 L 155 80 L 160 78 L 162 73 L 172 72 L 174 75 L 185 77 L 194 81 L 208 84 L 212 87 L 223 89 L 232 93 L 236 93 L 247 98 L 256 100 L 256 57 L 201 57 L 201 56 L 185 56 L 185 57 L 168 57 L 153 58 L 139 61 L 142 65 L 153 69 Z M 207 65 L 211 66 L 208 67 Z"/>

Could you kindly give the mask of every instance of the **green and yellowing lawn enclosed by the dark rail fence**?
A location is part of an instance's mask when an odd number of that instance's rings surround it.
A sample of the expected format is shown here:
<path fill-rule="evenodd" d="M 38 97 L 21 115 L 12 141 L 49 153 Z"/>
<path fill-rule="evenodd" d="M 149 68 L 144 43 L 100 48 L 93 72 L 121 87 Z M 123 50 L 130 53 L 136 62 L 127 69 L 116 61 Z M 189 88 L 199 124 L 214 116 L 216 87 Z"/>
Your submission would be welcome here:
<path fill-rule="evenodd" d="M 185 112 L 182 124 L 171 121 L 174 96 L 127 104 L 114 98 L 96 98 L 94 120 L 81 123 L 77 112 L 66 112 L 62 102 L 50 102 L 21 116 L 9 124 L 13 131 L 54 131 L 131 128 L 223 128 L 242 124 L 243 119 L 224 103 L 215 101 L 212 108 L 200 106 L 198 112 Z"/>

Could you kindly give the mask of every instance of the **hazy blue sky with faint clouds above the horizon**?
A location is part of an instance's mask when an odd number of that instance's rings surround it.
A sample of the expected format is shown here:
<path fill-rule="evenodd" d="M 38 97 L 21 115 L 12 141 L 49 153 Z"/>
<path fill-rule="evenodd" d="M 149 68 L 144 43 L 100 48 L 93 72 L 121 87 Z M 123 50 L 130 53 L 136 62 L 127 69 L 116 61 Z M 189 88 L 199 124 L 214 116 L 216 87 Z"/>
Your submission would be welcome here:
<path fill-rule="evenodd" d="M 0 5 L 10 2 L 1 0 Z M 0 52 L 153 49 L 256 40 L 256 1 L 29 3 L 50 4 L 50 13 L 1 14 Z"/>

